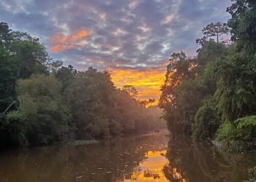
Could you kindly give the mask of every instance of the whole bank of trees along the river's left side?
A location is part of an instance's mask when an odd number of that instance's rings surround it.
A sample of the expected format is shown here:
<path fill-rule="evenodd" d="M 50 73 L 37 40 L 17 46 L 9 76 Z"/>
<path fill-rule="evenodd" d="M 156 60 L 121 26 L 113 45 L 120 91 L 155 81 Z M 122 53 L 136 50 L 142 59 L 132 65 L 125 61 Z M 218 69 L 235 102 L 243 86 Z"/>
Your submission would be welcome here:
<path fill-rule="evenodd" d="M 53 61 L 27 33 L 0 23 L 0 146 L 105 138 L 163 126 L 157 107 L 117 89 L 107 71 Z"/>

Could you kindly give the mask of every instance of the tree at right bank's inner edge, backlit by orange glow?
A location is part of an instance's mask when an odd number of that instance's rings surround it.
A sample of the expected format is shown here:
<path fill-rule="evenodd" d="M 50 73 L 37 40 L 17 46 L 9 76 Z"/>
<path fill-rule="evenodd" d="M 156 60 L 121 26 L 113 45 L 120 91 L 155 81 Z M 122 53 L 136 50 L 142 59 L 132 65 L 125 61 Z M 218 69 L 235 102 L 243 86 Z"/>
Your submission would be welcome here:
<path fill-rule="evenodd" d="M 177 91 L 182 82 L 195 78 L 196 73 L 193 68 L 195 59 L 187 58 L 184 52 L 173 53 L 170 56 L 170 63 L 167 65 L 165 83 L 162 85 L 162 94 L 159 100 L 160 108 L 165 111 L 164 117 L 167 120 L 167 127 L 172 132 L 189 132 L 190 128 L 186 121 L 187 116 L 179 104 L 179 94 Z"/>

